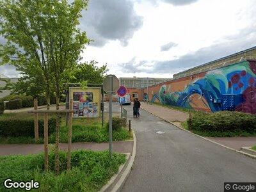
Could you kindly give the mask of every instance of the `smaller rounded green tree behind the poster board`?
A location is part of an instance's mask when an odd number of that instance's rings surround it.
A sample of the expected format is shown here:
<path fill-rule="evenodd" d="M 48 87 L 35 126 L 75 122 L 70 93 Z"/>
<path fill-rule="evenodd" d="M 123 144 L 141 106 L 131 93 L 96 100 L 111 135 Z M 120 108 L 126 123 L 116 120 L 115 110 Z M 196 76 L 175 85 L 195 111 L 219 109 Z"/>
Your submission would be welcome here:
<path fill-rule="evenodd" d="M 88 81 L 88 83 L 103 83 L 104 76 L 108 72 L 107 65 L 97 67 L 97 61 L 85 62 L 77 65 L 72 83 Z"/>

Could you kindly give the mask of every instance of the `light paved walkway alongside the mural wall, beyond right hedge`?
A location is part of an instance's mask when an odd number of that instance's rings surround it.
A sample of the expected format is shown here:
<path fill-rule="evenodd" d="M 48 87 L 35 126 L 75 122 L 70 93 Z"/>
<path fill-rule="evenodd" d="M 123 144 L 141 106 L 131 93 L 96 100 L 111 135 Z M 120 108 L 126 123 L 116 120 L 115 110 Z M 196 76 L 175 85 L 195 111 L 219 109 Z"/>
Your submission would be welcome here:
<path fill-rule="evenodd" d="M 188 113 L 170 108 L 164 108 L 162 106 L 156 106 L 154 104 L 147 104 L 144 102 L 141 102 L 141 109 L 144 109 L 153 115 L 159 116 L 167 122 L 184 122 L 188 118 Z"/>

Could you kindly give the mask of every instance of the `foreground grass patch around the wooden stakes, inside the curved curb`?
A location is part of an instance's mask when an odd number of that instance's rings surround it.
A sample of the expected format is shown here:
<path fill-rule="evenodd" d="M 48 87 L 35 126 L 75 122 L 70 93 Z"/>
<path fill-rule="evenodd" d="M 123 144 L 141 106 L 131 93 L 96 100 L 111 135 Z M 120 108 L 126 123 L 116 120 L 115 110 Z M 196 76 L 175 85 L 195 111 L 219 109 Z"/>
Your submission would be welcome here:
<path fill-rule="evenodd" d="M 99 191 L 125 163 L 124 154 L 114 153 L 111 158 L 107 151 L 93 152 L 77 150 L 72 152 L 71 170 L 67 172 L 67 154 L 60 152 L 60 175 L 55 175 L 54 154 L 49 154 L 49 172 L 44 172 L 44 154 L 0 157 L 0 191 L 6 191 L 3 182 L 39 182 L 39 191 Z M 9 189 L 8 191 L 25 191 Z M 33 191 L 33 190 L 32 190 Z"/>

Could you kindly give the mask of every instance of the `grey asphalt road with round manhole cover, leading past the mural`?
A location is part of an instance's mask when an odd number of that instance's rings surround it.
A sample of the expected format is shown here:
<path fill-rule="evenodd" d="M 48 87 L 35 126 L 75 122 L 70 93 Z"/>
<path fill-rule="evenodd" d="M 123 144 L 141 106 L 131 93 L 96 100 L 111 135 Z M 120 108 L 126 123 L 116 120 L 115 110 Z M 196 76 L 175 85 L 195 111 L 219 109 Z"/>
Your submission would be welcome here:
<path fill-rule="evenodd" d="M 256 160 L 202 140 L 141 110 L 132 117 L 134 167 L 122 191 L 223 191 L 224 182 L 256 182 Z M 164 134 L 157 134 L 163 131 Z"/>

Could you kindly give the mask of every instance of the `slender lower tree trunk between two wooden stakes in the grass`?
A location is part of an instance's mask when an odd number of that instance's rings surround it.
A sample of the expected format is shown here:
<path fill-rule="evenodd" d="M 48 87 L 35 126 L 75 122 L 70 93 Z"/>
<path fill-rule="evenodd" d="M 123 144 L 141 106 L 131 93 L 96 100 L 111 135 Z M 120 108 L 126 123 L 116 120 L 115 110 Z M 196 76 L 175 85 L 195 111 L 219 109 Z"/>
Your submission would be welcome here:
<path fill-rule="evenodd" d="M 60 86 L 56 82 L 56 109 L 60 107 Z M 56 141 L 55 141 L 55 172 L 58 175 L 60 173 L 60 113 L 56 115 Z"/>

